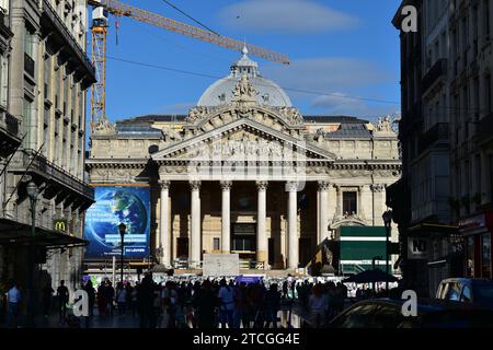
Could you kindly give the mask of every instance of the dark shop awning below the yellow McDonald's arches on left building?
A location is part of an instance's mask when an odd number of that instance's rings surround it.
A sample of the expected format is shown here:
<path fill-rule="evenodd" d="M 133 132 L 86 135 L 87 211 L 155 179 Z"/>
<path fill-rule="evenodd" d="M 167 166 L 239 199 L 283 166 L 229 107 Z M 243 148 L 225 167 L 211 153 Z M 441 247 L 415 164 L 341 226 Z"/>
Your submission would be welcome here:
<path fill-rule="evenodd" d="M 32 241 L 31 225 L 10 219 L 0 219 L 0 245 L 28 245 Z M 36 228 L 35 244 L 54 249 L 87 246 L 89 241 L 60 231 Z"/>

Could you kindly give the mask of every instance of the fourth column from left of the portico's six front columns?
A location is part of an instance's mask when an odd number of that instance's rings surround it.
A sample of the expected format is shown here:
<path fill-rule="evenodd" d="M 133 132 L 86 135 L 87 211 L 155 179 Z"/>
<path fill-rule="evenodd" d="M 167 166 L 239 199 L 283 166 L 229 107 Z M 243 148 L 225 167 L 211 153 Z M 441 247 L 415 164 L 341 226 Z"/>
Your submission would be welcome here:
<path fill-rule="evenodd" d="M 256 260 L 268 264 L 268 241 L 267 241 L 267 182 L 257 182 L 257 218 L 256 218 Z"/>

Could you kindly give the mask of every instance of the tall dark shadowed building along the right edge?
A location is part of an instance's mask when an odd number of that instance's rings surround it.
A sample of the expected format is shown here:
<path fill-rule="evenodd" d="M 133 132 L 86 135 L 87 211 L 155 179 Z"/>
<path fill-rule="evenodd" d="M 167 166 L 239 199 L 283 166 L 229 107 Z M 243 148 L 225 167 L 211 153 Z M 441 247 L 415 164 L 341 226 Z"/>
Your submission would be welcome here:
<path fill-rule="evenodd" d="M 459 232 L 461 220 L 491 207 L 492 5 L 403 1 L 393 19 L 398 30 L 404 5 L 419 10 L 420 25 L 400 36 L 403 176 L 389 190 L 389 202 L 403 244 L 427 242 L 425 258 L 406 258 L 404 248 L 403 260 L 412 287 L 433 295 L 442 279 L 468 271 L 465 254 L 471 248 Z M 474 238 L 467 241 L 479 249 Z M 483 241 L 480 250 L 490 252 Z"/>

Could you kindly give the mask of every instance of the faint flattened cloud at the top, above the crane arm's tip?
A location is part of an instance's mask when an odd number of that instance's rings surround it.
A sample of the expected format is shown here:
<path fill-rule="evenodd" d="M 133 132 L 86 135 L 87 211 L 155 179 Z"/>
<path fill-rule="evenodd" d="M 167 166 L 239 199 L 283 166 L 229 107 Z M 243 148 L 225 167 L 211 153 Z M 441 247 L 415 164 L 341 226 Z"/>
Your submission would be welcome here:
<path fill-rule="evenodd" d="M 312 0 L 246 0 L 226 7 L 220 20 L 239 31 L 312 34 L 354 28 L 358 19 Z"/>

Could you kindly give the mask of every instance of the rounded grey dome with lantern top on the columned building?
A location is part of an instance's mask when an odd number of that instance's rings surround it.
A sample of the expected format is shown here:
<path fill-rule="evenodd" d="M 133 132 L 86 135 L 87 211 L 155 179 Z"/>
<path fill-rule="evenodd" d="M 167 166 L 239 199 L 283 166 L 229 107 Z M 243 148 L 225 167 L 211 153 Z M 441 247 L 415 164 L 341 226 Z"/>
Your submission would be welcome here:
<path fill-rule="evenodd" d="M 256 101 L 260 105 L 272 107 L 291 107 L 288 95 L 273 81 L 265 79 L 259 72 L 259 65 L 248 56 L 246 47 L 243 47 L 243 56 L 231 66 L 228 77 L 219 79 L 211 84 L 200 96 L 197 106 L 214 107 L 231 102 L 232 91 L 244 73 L 250 83 L 259 92 Z"/>

